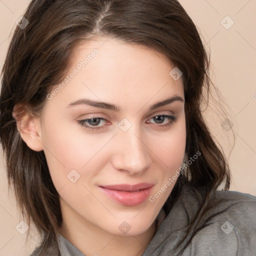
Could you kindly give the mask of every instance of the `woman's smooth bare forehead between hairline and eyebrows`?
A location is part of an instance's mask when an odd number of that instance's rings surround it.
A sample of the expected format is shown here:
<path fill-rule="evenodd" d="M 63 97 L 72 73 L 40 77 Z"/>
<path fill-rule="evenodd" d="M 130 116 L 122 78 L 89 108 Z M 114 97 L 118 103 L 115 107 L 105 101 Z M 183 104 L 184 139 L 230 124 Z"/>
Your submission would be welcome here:
<path fill-rule="evenodd" d="M 173 68 L 164 55 L 144 45 L 93 39 L 74 49 L 63 86 L 53 99 L 61 105 L 84 96 L 130 107 L 153 98 L 182 96 L 182 77 L 174 80 L 170 75 Z"/>

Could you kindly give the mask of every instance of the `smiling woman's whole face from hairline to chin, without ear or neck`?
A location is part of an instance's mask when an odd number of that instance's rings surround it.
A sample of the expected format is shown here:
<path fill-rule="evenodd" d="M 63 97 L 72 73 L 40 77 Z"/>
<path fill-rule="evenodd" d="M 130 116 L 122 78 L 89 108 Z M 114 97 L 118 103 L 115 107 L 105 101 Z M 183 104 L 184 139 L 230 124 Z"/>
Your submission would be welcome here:
<path fill-rule="evenodd" d="M 173 68 L 116 39 L 75 49 L 40 127 L 66 224 L 135 235 L 153 223 L 185 150 L 182 77 Z"/>

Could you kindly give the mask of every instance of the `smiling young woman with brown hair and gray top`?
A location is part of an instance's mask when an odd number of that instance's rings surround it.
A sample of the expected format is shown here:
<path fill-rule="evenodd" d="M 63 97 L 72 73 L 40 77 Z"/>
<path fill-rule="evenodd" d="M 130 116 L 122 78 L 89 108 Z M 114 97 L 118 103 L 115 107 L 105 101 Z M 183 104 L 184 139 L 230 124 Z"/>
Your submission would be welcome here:
<path fill-rule="evenodd" d="M 256 198 L 227 191 L 210 86 L 176 0 L 32 0 L 0 96 L 32 255 L 254 255 Z"/>

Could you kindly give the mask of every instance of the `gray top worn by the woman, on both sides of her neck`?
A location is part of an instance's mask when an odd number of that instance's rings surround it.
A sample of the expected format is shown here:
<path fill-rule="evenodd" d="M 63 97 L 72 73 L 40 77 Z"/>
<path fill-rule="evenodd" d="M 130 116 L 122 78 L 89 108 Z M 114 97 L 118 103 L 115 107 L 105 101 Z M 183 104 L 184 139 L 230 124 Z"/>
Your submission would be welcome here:
<path fill-rule="evenodd" d="M 183 186 L 142 256 L 256 256 L 256 196 L 217 191 L 204 203 L 205 190 L 196 191 Z M 61 256 L 85 256 L 61 235 L 58 245 L 44 255 L 57 256 L 58 248 Z"/>

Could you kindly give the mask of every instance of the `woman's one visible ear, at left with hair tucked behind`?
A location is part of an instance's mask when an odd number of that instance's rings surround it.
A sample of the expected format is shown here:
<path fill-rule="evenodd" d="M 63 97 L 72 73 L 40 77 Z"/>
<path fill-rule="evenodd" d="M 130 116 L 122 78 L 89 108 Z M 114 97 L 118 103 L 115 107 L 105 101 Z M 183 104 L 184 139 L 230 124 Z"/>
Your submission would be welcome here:
<path fill-rule="evenodd" d="M 22 103 L 14 105 L 12 116 L 16 120 L 17 130 L 27 146 L 34 151 L 43 150 L 39 119 L 32 117 Z"/>

